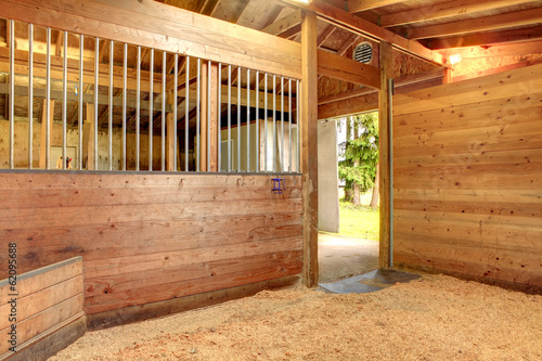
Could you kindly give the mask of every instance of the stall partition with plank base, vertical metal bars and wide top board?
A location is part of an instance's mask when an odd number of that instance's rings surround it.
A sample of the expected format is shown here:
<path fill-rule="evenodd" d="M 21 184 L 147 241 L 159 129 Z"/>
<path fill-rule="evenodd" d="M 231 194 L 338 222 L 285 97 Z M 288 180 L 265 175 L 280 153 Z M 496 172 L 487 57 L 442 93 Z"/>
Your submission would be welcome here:
<path fill-rule="evenodd" d="M 299 44 L 128 3 L 0 12 L 2 248 L 20 276 L 82 257 L 92 328 L 294 284 L 302 268 Z"/>

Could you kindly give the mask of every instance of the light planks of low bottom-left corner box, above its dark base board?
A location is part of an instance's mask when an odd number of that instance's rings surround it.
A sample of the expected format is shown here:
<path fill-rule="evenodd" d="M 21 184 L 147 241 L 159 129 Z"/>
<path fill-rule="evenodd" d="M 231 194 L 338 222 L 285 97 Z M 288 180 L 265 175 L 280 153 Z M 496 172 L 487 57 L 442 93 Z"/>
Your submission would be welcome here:
<path fill-rule="evenodd" d="M 18 245 L 17 243 L 17 250 Z M 8 244 L 4 249 L 8 249 Z M 21 258 L 15 260 L 17 266 L 22 263 Z M 8 260 L 3 265 L 8 265 Z M 0 360 L 20 354 L 28 346 L 55 332 L 62 333 L 63 327 L 69 328 L 70 323 L 85 319 L 81 257 L 22 273 L 24 269 L 17 268 L 15 284 L 9 282 L 13 279 L 0 281 Z M 9 304 L 13 300 L 14 304 Z M 10 320 L 8 315 L 13 315 L 16 320 Z M 13 338 L 16 345 L 8 343 L 12 339 L 8 334 L 12 330 L 12 321 L 16 321 L 16 335 Z M 12 346 L 15 346 L 16 353 L 10 350 Z M 67 344 L 62 345 L 56 351 L 66 346 Z"/>

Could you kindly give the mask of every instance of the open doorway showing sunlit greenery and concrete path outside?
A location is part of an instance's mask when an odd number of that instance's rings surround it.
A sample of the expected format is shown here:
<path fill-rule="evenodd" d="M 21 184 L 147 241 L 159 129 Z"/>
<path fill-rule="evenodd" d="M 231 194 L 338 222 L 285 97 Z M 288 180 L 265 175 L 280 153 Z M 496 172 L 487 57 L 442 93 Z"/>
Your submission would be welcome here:
<path fill-rule="evenodd" d="M 326 283 L 378 268 L 378 114 L 326 120 L 318 141 L 319 278 Z"/>

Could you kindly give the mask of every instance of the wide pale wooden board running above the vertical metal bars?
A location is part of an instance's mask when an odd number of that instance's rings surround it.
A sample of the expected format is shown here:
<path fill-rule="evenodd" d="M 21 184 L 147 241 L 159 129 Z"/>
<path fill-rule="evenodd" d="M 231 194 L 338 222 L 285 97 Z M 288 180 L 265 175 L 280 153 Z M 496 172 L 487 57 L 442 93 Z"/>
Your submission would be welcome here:
<path fill-rule="evenodd" d="M 155 1 L 2 0 L 0 17 L 293 78 L 301 72 L 299 43 Z"/>

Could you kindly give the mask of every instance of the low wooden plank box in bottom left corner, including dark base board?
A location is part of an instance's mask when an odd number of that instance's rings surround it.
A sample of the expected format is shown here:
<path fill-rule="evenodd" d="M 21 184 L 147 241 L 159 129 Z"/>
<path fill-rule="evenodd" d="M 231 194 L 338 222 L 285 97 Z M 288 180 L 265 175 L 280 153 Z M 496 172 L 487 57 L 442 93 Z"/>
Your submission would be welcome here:
<path fill-rule="evenodd" d="M 9 244 L 10 278 L 0 280 L 0 360 L 46 360 L 82 336 L 82 258 L 22 272 Z M 8 248 L 7 248 L 8 250 Z"/>

